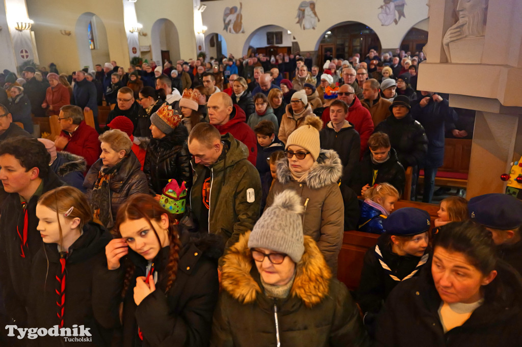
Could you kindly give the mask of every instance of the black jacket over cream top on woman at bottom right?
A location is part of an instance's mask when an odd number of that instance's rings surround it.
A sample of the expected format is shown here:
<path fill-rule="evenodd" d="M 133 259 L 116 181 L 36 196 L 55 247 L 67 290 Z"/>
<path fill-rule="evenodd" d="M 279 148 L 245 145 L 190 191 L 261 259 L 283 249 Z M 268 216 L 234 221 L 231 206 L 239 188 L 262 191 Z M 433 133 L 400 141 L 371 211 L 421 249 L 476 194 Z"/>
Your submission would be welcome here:
<path fill-rule="evenodd" d="M 377 320 L 377 347 L 519 347 L 522 346 L 522 284 L 505 265 L 484 287 L 484 303 L 460 327 L 444 333 L 430 267 L 400 283 L 388 296 Z"/>

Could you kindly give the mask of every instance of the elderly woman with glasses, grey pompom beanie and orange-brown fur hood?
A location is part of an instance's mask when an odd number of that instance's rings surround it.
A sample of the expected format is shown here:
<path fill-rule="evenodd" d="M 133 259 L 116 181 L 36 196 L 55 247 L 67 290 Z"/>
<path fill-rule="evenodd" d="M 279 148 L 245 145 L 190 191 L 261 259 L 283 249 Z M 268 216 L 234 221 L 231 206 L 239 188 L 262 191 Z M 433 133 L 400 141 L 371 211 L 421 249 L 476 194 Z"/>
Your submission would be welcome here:
<path fill-rule="evenodd" d="M 304 210 L 281 192 L 223 257 L 211 345 L 369 345 L 350 293 L 303 236 Z"/>

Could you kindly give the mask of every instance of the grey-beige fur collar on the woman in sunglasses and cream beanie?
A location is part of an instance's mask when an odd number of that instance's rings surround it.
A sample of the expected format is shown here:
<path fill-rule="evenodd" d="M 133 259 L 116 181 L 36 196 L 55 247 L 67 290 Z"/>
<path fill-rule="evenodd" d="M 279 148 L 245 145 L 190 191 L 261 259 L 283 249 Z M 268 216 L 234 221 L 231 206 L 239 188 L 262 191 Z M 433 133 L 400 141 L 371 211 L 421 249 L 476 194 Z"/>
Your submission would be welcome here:
<path fill-rule="evenodd" d="M 288 159 L 282 158 L 276 163 L 277 179 L 280 183 L 288 183 L 292 179 L 288 168 Z M 317 165 L 313 166 L 306 177 L 306 185 L 312 189 L 320 189 L 337 183 L 342 175 L 342 163 L 334 150 L 321 150 L 317 158 Z"/>

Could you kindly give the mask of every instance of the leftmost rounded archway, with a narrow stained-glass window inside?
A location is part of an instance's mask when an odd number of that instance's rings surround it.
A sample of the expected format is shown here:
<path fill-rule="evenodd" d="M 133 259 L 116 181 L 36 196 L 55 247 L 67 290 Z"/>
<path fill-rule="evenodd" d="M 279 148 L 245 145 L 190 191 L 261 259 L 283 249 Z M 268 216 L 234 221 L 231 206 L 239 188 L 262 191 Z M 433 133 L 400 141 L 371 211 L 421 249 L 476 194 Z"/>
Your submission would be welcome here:
<path fill-rule="evenodd" d="M 80 67 L 94 70 L 94 64 L 110 61 L 105 26 L 97 15 L 86 12 L 76 21 L 76 45 Z"/>

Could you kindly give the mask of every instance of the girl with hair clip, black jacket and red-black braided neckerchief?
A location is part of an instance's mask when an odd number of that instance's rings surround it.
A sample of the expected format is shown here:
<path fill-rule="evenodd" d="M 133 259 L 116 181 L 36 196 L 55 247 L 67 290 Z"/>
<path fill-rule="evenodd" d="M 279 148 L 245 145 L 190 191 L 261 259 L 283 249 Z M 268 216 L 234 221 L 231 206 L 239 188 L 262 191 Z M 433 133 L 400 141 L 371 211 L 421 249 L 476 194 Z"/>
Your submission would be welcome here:
<path fill-rule="evenodd" d="M 78 332 L 87 329 L 90 334 L 79 336 L 89 340 L 77 344 L 109 346 L 111 330 L 102 328 L 94 318 L 97 308 L 92 283 L 96 281 L 93 269 L 105 261 L 110 233 L 92 221 L 85 195 L 73 187 L 56 188 L 40 196 L 36 215 L 43 245 L 32 262 L 28 326 L 73 331 L 77 325 Z M 75 345 L 63 336 L 29 341 L 39 346 Z"/>

